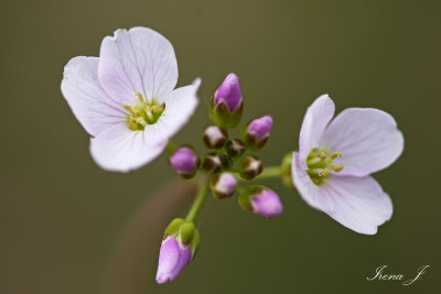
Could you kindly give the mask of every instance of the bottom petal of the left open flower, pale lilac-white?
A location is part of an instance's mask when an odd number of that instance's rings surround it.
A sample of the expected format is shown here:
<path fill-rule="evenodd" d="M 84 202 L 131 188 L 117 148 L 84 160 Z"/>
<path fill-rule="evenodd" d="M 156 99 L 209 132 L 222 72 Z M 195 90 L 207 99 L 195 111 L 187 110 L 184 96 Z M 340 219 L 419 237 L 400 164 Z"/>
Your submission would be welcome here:
<path fill-rule="evenodd" d="M 104 170 L 129 172 L 151 162 L 164 150 L 168 140 L 158 141 L 148 131 L 131 131 L 126 123 L 115 124 L 90 139 L 90 154 Z"/>

